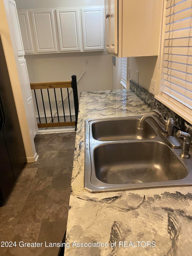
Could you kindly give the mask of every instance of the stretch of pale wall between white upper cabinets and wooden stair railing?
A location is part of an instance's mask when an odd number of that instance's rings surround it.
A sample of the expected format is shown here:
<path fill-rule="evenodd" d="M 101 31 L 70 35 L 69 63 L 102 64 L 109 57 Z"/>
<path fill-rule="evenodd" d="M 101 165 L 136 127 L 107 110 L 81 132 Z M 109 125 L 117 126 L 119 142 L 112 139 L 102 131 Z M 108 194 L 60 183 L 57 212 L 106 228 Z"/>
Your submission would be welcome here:
<path fill-rule="evenodd" d="M 104 52 L 52 53 L 26 55 L 31 83 L 77 79 L 85 70 L 79 82 L 78 92 L 112 89 L 112 56 Z M 85 60 L 89 65 L 85 66 Z"/>

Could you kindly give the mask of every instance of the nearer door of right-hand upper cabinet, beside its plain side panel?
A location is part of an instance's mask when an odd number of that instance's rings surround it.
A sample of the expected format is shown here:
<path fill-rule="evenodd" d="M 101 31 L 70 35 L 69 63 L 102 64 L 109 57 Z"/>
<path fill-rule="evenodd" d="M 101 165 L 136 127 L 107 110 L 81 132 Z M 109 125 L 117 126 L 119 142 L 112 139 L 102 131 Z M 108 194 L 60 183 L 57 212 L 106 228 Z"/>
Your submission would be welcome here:
<path fill-rule="evenodd" d="M 118 53 L 118 0 L 110 0 L 109 20 L 110 20 L 110 32 L 109 32 L 110 33 L 110 52 Z"/>

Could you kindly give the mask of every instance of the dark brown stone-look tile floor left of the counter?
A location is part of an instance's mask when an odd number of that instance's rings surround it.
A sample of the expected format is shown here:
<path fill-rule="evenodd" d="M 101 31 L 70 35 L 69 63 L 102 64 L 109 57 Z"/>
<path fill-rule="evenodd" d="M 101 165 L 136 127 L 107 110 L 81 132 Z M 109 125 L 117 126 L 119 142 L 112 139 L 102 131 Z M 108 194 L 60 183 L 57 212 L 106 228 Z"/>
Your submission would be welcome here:
<path fill-rule="evenodd" d="M 59 248 L 45 248 L 45 241 L 60 242 L 65 233 L 73 168 L 75 132 L 37 135 L 36 163 L 26 164 L 7 200 L 0 208 L 0 256 L 57 256 Z M 19 247 L 18 242 L 43 242 L 42 247 Z"/>

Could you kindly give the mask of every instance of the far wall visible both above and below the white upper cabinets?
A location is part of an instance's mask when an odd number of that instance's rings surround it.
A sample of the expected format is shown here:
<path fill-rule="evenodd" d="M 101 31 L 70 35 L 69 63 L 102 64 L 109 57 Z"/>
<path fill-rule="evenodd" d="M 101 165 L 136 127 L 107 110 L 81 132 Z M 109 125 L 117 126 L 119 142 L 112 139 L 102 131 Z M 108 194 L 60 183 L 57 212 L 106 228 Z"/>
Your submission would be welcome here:
<path fill-rule="evenodd" d="M 104 5 L 104 3 L 104 0 L 16 0 L 17 10 L 30 8 L 94 6 Z M 86 73 L 78 85 L 78 94 L 80 94 L 81 91 L 112 89 L 112 56 L 107 54 L 106 51 L 33 54 L 25 55 L 25 58 L 30 83 L 71 80 L 71 75 L 73 74 L 75 74 L 78 79 L 82 74 L 82 71 L 85 70 Z M 85 60 L 88 60 L 88 66 L 85 66 Z M 54 106 L 54 101 L 52 101 L 52 103 Z M 49 109 L 48 101 L 46 102 L 46 106 L 46 108 Z M 55 107 L 53 108 L 54 111 Z M 41 107 L 40 112 L 43 113 L 43 107 Z"/>

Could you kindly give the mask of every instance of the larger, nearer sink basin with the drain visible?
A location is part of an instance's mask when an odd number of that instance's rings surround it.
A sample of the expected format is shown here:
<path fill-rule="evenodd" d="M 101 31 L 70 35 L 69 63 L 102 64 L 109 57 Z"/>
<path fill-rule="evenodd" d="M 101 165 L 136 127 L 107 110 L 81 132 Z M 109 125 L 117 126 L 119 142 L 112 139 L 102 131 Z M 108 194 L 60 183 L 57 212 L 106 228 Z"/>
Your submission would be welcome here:
<path fill-rule="evenodd" d="M 94 149 L 95 176 L 107 184 L 183 179 L 187 170 L 164 143 L 157 141 L 104 144 Z"/>

